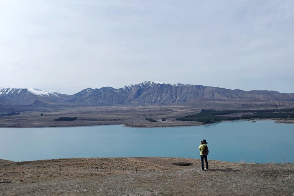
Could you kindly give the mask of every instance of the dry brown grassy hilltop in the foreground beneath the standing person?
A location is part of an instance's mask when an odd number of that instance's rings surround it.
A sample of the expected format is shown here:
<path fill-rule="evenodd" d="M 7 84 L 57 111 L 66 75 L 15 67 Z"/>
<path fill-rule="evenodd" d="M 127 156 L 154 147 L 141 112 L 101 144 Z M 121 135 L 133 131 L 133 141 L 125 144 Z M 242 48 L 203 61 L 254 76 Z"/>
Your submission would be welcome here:
<path fill-rule="evenodd" d="M 0 196 L 294 195 L 293 163 L 208 163 L 201 171 L 190 158 L 0 160 Z"/>

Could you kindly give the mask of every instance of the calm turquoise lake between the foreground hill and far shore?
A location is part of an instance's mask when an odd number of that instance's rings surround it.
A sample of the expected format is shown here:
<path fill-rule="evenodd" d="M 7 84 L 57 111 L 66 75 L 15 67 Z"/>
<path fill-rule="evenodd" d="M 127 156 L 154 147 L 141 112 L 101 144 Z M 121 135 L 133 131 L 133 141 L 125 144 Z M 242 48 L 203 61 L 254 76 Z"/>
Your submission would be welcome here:
<path fill-rule="evenodd" d="M 66 128 L 0 128 L 0 159 L 27 161 L 83 157 L 200 158 L 247 163 L 294 162 L 294 124 L 272 120 L 207 126 L 128 128 L 103 125 Z"/>

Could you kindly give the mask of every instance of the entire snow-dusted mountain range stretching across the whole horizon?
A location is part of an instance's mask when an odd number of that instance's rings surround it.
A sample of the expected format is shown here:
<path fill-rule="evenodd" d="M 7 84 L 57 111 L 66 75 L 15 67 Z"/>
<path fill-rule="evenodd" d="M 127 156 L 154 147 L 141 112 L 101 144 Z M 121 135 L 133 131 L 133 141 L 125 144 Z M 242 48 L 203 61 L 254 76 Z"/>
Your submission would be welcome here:
<path fill-rule="evenodd" d="M 0 107 L 22 106 L 100 106 L 123 103 L 138 104 L 168 104 L 196 103 L 205 100 L 244 100 L 250 101 L 294 101 L 294 93 L 279 93 L 277 91 L 242 91 L 226 88 L 170 84 L 146 81 L 122 88 L 86 88 L 76 94 L 66 95 L 56 92 L 45 92 L 36 88 L 3 88 L 0 87 Z"/>

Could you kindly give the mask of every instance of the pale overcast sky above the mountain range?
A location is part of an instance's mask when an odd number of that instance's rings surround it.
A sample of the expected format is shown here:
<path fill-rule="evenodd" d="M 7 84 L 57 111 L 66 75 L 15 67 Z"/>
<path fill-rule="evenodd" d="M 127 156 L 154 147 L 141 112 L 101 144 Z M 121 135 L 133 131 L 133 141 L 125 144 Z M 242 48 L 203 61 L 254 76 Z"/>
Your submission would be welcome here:
<path fill-rule="evenodd" d="M 294 93 L 293 0 L 1 0 L 0 86 Z"/>

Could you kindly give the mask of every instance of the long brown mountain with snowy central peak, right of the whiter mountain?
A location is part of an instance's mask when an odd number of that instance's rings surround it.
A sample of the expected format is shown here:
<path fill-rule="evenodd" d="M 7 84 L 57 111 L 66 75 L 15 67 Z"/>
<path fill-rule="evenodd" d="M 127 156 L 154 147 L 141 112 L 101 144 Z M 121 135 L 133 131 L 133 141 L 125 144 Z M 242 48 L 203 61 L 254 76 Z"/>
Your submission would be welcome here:
<path fill-rule="evenodd" d="M 283 100 L 289 101 L 293 95 L 276 91 L 242 91 L 200 85 L 170 84 L 145 81 L 115 89 L 103 87 L 84 89 L 69 98 L 71 103 L 81 105 L 121 104 L 121 103 L 185 103 L 198 99 L 217 100 Z"/>

